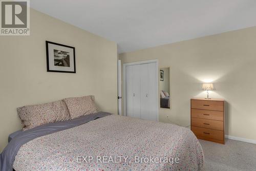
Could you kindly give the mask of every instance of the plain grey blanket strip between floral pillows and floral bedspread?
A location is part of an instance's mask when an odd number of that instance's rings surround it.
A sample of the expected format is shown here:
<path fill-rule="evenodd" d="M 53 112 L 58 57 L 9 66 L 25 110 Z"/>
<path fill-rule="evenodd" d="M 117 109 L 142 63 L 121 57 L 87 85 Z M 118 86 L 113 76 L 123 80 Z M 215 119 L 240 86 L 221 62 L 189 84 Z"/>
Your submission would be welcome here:
<path fill-rule="evenodd" d="M 110 113 L 106 112 L 98 112 L 96 114 L 90 114 L 86 116 L 82 116 L 80 118 L 68 120 L 68 121 L 62 121 L 62 122 L 55 122 L 55 123 L 48 123 L 45 125 L 34 127 L 31 130 L 23 131 L 22 133 L 19 133 L 17 136 L 15 136 L 9 144 L 5 147 L 4 151 L 0 155 L 0 170 L 1 171 L 11 171 L 12 165 L 15 159 L 15 156 L 19 150 L 19 148 L 41 136 L 45 136 L 48 134 L 52 134 L 58 131 L 63 131 L 70 129 L 72 127 L 87 123 L 91 120 L 95 120 L 97 118 L 102 118 L 105 116 L 111 115 Z"/>

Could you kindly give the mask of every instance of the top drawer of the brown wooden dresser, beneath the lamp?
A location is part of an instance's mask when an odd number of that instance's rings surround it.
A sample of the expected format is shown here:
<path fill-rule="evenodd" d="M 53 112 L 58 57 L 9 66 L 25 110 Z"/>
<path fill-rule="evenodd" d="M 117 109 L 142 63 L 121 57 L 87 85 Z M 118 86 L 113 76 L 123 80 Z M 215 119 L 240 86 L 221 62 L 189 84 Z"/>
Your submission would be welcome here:
<path fill-rule="evenodd" d="M 224 103 L 223 103 L 223 101 L 192 99 L 191 100 L 191 108 L 213 110 L 213 111 L 223 111 Z"/>

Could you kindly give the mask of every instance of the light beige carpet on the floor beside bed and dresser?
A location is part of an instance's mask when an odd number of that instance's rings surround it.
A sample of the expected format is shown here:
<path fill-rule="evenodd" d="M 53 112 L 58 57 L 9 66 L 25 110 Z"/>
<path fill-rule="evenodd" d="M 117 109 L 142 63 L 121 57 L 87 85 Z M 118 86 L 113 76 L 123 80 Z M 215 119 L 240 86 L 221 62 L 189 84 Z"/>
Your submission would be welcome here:
<path fill-rule="evenodd" d="M 225 145 L 199 140 L 205 157 L 203 170 L 256 170 L 256 144 L 226 139 Z"/>

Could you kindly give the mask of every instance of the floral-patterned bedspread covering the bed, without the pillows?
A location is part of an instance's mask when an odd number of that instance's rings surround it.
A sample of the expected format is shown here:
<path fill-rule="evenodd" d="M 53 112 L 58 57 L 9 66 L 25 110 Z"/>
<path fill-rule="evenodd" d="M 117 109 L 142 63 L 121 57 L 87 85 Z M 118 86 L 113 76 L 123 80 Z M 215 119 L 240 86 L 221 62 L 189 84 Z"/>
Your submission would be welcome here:
<path fill-rule="evenodd" d="M 109 115 L 20 147 L 15 170 L 200 170 L 204 155 L 185 127 Z"/>

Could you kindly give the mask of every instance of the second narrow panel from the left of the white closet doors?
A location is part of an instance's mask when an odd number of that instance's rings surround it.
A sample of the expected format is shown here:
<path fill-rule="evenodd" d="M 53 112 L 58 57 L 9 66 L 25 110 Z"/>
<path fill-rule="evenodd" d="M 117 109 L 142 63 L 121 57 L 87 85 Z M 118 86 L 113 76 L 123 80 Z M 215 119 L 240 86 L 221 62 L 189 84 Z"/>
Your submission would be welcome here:
<path fill-rule="evenodd" d="M 140 65 L 133 66 L 133 117 L 140 118 Z"/>

